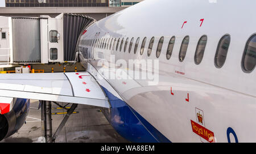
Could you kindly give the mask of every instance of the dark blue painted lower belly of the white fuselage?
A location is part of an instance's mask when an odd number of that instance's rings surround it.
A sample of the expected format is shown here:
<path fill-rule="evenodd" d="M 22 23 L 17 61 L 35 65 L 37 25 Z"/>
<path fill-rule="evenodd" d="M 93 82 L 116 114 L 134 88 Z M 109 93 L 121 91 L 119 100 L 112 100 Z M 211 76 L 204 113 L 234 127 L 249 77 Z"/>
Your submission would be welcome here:
<path fill-rule="evenodd" d="M 102 89 L 112 106 L 110 113 L 105 112 L 106 118 L 120 135 L 131 142 L 170 142 L 126 102 L 115 97 L 106 88 Z"/>

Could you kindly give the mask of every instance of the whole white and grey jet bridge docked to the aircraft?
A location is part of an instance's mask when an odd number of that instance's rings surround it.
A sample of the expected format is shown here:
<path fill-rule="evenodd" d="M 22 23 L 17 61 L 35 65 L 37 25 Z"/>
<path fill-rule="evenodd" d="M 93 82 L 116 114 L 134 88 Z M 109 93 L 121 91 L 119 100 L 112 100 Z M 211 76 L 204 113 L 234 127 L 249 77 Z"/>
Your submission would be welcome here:
<path fill-rule="evenodd" d="M 89 16 L 60 14 L 56 18 L 0 16 L 0 63 L 75 62 L 82 29 L 96 20 Z"/>

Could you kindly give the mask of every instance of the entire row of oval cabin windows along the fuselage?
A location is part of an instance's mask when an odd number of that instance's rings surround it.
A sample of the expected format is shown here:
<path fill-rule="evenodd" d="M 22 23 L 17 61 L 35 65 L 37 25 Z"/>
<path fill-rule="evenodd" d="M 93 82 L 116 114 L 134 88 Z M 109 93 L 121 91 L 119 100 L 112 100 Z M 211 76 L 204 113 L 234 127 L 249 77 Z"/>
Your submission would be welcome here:
<path fill-rule="evenodd" d="M 137 53 L 139 40 L 140 38 L 138 37 L 137 40 L 135 41 L 134 54 Z M 141 44 L 141 50 L 140 50 L 141 55 L 144 52 L 146 41 L 147 41 L 147 37 L 144 37 Z M 152 37 L 148 44 L 148 50 L 147 50 L 148 57 L 151 55 L 154 41 L 155 41 L 155 37 Z M 116 51 L 118 51 L 118 47 L 119 47 L 119 52 L 121 52 L 122 46 L 124 44 L 123 51 L 126 52 L 127 46 L 129 46 L 128 52 L 130 53 L 131 47 L 133 46 L 133 42 L 134 42 L 134 37 L 131 38 L 130 43 L 129 43 L 129 38 L 126 38 L 126 40 L 125 38 L 118 38 L 118 39 L 117 38 L 101 38 L 101 39 L 99 38 L 96 40 L 94 39 L 85 40 L 85 45 L 88 45 L 88 46 L 95 45 L 97 48 L 116 50 Z M 160 56 L 163 42 L 164 42 L 164 37 L 160 37 L 158 41 L 158 46 L 156 48 L 156 58 L 159 58 Z M 117 45 L 115 46 L 115 44 Z M 171 58 L 172 50 L 174 49 L 174 44 L 175 44 L 175 36 L 172 36 L 167 47 L 167 52 L 166 52 L 167 59 Z M 180 52 L 179 52 L 180 62 L 183 62 L 185 59 L 185 55 L 188 49 L 188 44 L 189 44 L 189 36 L 185 36 L 180 46 Z M 214 65 L 217 68 L 221 68 L 222 66 L 224 66 L 224 63 L 226 61 L 226 56 L 228 54 L 229 44 L 230 44 L 230 35 L 224 35 L 223 37 L 221 37 L 220 41 L 218 42 L 218 47 L 217 47 L 217 51 L 214 58 Z M 207 45 L 207 36 L 203 35 L 199 39 L 196 46 L 196 52 L 194 57 L 194 61 L 196 65 L 199 65 L 203 60 L 206 45 Z M 256 65 L 256 34 L 251 36 L 249 40 L 246 42 L 246 47 L 245 47 L 245 51 L 243 52 L 243 58 L 242 58 L 242 70 L 244 72 L 251 72 L 254 70 L 255 65 Z"/>

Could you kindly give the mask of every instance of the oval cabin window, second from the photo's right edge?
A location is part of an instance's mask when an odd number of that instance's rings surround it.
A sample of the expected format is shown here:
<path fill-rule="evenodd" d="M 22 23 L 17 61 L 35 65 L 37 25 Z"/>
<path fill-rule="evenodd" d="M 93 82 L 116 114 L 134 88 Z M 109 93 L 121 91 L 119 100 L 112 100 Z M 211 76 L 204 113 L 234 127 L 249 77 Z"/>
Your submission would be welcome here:
<path fill-rule="evenodd" d="M 230 44 L 229 35 L 223 36 L 220 42 L 218 43 L 218 48 L 217 48 L 217 52 L 215 55 L 215 62 L 214 62 L 217 68 L 221 68 L 224 65 L 226 61 L 226 55 L 228 54 L 229 44 Z"/>

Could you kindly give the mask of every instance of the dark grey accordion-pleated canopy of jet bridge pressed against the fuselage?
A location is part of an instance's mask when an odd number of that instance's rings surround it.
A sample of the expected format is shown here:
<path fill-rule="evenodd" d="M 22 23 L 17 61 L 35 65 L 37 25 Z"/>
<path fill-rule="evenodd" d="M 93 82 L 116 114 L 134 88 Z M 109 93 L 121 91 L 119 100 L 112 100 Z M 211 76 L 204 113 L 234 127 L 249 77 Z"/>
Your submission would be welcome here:
<path fill-rule="evenodd" d="M 88 16 L 64 14 L 64 61 L 75 61 L 77 40 L 82 30 L 91 22 L 94 22 L 94 19 Z"/>

